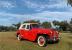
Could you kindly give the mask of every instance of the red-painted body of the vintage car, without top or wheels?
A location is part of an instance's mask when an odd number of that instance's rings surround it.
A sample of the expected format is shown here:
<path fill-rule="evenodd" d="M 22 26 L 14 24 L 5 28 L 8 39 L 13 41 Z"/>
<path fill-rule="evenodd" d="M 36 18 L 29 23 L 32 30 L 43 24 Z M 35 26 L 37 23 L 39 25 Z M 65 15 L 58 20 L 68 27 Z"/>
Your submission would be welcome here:
<path fill-rule="evenodd" d="M 43 29 L 43 28 L 32 28 L 31 30 L 19 29 L 17 34 L 20 34 L 23 39 L 27 39 L 30 41 L 35 41 L 38 34 L 46 34 L 50 39 L 53 39 L 54 35 L 56 36 L 56 40 L 58 38 L 58 33 L 53 29 Z"/>

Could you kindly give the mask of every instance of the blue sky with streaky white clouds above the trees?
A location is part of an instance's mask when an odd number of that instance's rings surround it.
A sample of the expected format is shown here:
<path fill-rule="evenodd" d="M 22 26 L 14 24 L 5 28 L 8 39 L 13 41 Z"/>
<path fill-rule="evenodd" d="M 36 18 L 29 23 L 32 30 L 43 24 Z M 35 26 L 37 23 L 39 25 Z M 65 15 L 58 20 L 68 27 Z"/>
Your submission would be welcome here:
<path fill-rule="evenodd" d="M 0 25 L 26 20 L 70 21 L 72 7 L 66 0 L 0 0 Z"/>

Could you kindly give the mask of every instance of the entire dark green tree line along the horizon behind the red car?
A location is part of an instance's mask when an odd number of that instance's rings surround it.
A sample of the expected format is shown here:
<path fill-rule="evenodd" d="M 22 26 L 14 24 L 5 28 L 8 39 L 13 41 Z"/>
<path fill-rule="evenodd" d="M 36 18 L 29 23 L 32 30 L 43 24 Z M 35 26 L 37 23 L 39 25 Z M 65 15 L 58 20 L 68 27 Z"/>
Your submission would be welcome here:
<path fill-rule="evenodd" d="M 23 23 L 39 23 L 44 28 L 51 28 L 52 27 L 51 23 L 47 22 L 47 21 L 40 23 L 39 20 L 37 20 L 37 21 L 36 20 L 29 20 L 29 21 L 24 21 Z M 56 27 L 57 30 L 59 30 L 59 31 L 70 31 L 70 32 L 72 32 L 72 19 L 71 19 L 70 22 L 67 22 L 67 21 L 59 22 L 59 21 L 54 20 L 53 24 L 55 26 L 59 26 L 59 27 Z M 15 31 L 20 27 L 20 25 L 21 25 L 21 22 L 19 22 L 17 24 L 12 24 L 12 26 L 0 26 L 0 31 Z"/>

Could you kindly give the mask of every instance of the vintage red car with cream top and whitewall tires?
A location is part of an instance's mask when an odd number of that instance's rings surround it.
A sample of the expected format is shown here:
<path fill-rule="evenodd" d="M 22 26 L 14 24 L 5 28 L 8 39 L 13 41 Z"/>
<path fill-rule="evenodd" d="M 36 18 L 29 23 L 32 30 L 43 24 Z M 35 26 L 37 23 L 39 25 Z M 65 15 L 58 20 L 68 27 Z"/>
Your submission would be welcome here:
<path fill-rule="evenodd" d="M 18 40 L 37 41 L 39 46 L 45 46 L 47 41 L 59 41 L 58 31 L 41 28 L 38 23 L 21 24 L 16 35 Z"/>

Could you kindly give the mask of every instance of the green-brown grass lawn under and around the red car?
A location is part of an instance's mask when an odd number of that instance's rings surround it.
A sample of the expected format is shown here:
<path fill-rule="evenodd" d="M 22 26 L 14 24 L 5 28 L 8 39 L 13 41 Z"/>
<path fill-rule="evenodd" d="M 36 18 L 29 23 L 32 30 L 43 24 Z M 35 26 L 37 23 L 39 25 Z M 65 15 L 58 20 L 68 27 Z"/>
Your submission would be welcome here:
<path fill-rule="evenodd" d="M 72 50 L 72 34 L 61 33 L 59 43 L 48 44 L 46 47 L 39 47 L 37 43 L 30 41 L 18 41 L 15 32 L 0 32 L 0 50 Z"/>

